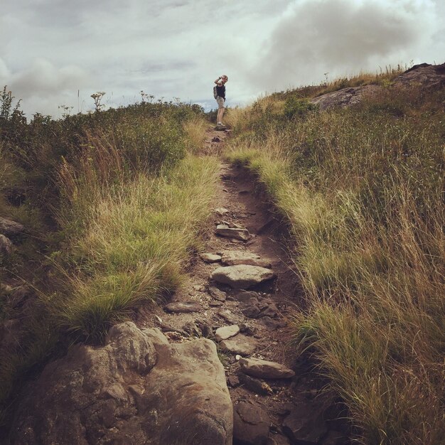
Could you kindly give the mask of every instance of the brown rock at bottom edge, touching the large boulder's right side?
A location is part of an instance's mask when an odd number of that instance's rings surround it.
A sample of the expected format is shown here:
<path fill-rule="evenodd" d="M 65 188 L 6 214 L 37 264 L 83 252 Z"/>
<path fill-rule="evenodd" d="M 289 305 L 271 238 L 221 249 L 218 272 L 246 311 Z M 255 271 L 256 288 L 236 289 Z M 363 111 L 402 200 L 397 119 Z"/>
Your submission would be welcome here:
<path fill-rule="evenodd" d="M 259 404 L 243 400 L 233 405 L 233 439 L 237 444 L 266 445 L 270 423 Z"/>

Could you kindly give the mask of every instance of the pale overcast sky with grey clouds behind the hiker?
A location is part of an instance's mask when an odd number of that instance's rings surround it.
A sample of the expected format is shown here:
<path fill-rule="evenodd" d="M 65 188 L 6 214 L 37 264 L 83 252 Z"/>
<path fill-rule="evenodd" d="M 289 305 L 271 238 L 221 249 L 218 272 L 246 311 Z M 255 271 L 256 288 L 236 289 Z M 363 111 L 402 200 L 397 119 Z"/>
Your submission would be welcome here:
<path fill-rule="evenodd" d="M 0 0 L 0 86 L 28 117 L 139 92 L 227 104 L 397 63 L 445 62 L 443 0 Z"/>

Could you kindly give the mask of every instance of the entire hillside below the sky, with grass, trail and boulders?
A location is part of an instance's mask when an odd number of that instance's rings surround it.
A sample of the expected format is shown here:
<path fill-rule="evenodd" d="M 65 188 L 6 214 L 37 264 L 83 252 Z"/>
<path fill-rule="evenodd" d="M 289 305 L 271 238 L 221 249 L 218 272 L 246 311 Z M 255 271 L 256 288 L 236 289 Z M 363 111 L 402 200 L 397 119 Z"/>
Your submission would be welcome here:
<path fill-rule="evenodd" d="M 429 444 L 445 65 L 229 109 L 0 117 L 5 444 Z"/>

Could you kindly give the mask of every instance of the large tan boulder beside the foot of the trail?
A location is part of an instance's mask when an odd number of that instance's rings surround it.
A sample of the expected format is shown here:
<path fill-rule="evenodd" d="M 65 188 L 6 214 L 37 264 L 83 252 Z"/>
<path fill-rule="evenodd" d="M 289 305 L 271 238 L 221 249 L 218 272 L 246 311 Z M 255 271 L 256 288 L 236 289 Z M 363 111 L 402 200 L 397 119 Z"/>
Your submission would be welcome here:
<path fill-rule="evenodd" d="M 75 346 L 18 404 L 11 444 L 232 444 L 232 402 L 215 343 L 169 344 L 158 329 L 114 326 Z"/>

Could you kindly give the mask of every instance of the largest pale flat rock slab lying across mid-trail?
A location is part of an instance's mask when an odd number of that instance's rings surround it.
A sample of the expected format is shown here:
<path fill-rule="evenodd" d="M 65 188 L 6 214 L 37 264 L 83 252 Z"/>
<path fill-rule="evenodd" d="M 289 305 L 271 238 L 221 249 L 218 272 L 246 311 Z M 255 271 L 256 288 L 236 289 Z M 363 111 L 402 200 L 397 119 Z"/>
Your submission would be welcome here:
<path fill-rule="evenodd" d="M 248 264 L 218 267 L 210 274 L 210 279 L 228 284 L 233 289 L 247 289 L 274 277 L 275 274 L 271 269 Z"/>

